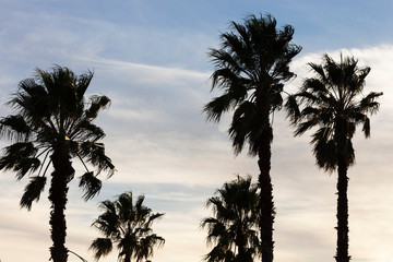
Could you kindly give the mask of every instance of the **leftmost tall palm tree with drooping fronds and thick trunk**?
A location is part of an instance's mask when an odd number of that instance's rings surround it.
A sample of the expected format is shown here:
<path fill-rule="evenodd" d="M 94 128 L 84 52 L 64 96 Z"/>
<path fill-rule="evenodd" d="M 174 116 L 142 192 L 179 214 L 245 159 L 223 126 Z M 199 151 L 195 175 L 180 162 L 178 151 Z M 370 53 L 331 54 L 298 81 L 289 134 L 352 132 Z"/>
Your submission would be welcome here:
<path fill-rule="evenodd" d="M 48 169 L 52 166 L 49 223 L 53 262 L 68 259 L 64 210 L 68 183 L 75 172 L 71 158 L 81 159 L 86 167 L 79 184 L 86 201 L 100 190 L 102 181 L 97 175 L 108 171 L 111 176 L 115 170 L 99 142 L 105 133 L 93 123 L 110 100 L 106 96 L 92 96 L 85 100 L 92 78 L 92 72 L 76 76 L 59 66 L 51 72 L 36 69 L 36 78 L 20 82 L 17 92 L 8 102 L 15 114 L 0 120 L 0 136 L 11 142 L 0 157 L 0 169 L 16 172 L 17 180 L 27 174 L 29 177 L 20 202 L 22 207 L 31 210 L 33 201 L 39 200 Z M 96 172 L 88 170 L 83 160 L 96 167 Z"/>

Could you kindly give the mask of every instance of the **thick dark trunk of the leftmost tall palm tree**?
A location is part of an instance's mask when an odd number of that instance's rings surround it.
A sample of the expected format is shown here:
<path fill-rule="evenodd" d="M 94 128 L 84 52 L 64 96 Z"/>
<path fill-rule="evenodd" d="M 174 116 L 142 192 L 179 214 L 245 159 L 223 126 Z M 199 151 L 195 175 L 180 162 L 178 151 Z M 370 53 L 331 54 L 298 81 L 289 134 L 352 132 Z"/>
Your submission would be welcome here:
<path fill-rule="evenodd" d="M 64 145 L 57 146 L 51 155 L 53 172 L 49 189 L 49 201 L 51 202 L 50 211 L 50 237 L 52 247 L 50 254 L 53 262 L 67 262 L 68 249 L 66 248 L 67 223 L 66 223 L 66 204 L 67 204 L 67 183 L 73 175 L 70 156 Z"/>

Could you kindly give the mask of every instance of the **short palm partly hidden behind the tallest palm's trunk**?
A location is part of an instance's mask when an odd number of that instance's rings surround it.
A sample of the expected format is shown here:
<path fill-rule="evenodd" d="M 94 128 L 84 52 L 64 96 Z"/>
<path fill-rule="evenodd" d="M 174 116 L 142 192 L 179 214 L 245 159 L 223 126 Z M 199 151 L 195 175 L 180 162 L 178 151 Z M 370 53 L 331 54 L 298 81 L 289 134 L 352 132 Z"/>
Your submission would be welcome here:
<path fill-rule="evenodd" d="M 207 262 L 251 262 L 261 255 L 258 198 L 251 177 L 237 176 L 207 200 L 214 216 L 204 218 L 201 227 L 207 228 L 207 243 L 215 243 L 204 258 Z"/>

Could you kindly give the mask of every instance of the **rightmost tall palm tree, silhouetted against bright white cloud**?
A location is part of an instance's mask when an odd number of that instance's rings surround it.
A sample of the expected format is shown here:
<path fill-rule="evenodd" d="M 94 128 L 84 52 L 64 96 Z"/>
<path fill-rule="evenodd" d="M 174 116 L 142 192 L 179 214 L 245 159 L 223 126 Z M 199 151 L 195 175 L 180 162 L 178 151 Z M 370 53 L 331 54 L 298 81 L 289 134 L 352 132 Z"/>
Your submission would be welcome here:
<path fill-rule="evenodd" d="M 356 127 L 362 124 L 366 138 L 370 136 L 368 114 L 378 111 L 376 99 L 382 93 L 364 95 L 365 79 L 370 68 L 359 68 L 353 57 L 335 62 L 327 55 L 323 64 L 309 63 L 314 78 L 306 79 L 300 91 L 290 96 L 286 108 L 296 126 L 295 135 L 314 127 L 311 144 L 317 165 L 325 171 L 337 170 L 337 262 L 348 262 L 348 177 L 347 169 L 355 163 L 352 139 Z M 298 104 L 302 105 L 300 110 Z"/>

